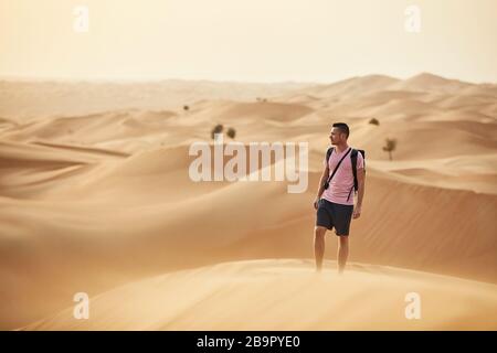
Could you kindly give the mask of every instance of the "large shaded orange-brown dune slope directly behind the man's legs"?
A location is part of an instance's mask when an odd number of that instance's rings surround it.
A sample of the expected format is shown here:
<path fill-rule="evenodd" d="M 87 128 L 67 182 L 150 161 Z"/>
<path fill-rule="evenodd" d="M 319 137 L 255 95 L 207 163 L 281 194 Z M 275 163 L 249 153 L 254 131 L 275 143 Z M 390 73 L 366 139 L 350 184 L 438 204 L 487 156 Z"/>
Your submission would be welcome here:
<path fill-rule="evenodd" d="M 19 288 L 21 272 L 54 282 L 44 291 L 36 290 L 38 281 L 24 284 L 33 295 L 17 301 L 33 308 L 29 317 L 61 309 L 61 297 L 67 298 L 78 288 L 99 292 L 121 284 L 123 277 L 136 280 L 158 270 L 236 258 L 311 256 L 310 191 L 290 195 L 285 184 L 276 182 L 193 184 L 178 164 L 181 159 L 168 156 L 175 154 L 142 153 L 102 173 L 99 181 L 93 175 L 95 182 L 87 185 L 77 186 L 77 181 L 65 190 L 60 185 L 59 195 L 42 194 L 50 195 L 45 201 L 1 200 L 1 222 L 10 224 L 10 246 L 2 246 L 2 254 L 9 252 L 2 260 L 9 275 L 6 285 Z M 159 160 L 175 162 L 165 168 Z M 423 186 L 376 171 L 374 165 L 369 173 L 364 210 L 396 207 L 364 212 L 352 224 L 353 260 L 497 280 L 495 227 L 493 222 L 484 222 L 494 216 L 495 196 Z M 83 182 L 88 175 L 74 179 Z M 316 184 L 318 173 L 310 175 L 310 184 Z M 134 193 L 127 192 L 129 188 Z M 240 195 L 244 195 L 243 208 Z M 261 200 L 272 212 L 258 213 Z M 423 205 L 425 212 L 420 213 Z M 192 227 L 190 220 L 201 226 Z M 30 246 L 34 239 L 44 239 L 43 252 Z M 61 244 L 67 242 L 71 247 L 61 253 Z M 335 242 L 328 245 L 328 257 L 335 255 Z M 47 254 L 52 254 L 50 261 Z M 12 307 L 4 307 L 2 312 L 22 319 L 17 310 L 10 310 Z"/>

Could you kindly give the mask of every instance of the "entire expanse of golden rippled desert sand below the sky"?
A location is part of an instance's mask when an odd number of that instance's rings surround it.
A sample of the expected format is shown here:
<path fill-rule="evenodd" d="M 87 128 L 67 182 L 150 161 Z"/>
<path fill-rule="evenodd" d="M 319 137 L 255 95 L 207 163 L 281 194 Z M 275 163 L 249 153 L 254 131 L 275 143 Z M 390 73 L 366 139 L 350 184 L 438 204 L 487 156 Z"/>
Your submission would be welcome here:
<path fill-rule="evenodd" d="M 0 292 L 1 329 L 180 329 L 203 322 L 212 329 L 276 329 L 278 318 L 286 318 L 278 328 L 292 329 L 293 315 L 306 318 L 300 329 L 495 329 L 495 318 L 485 315 L 495 307 L 497 282 L 494 85 L 426 74 L 266 90 L 203 83 L 190 92 L 194 84 L 177 84 L 0 85 L 0 97 L 18 97 L 0 99 L 0 287 L 7 288 Z M 70 107 L 64 92 L 87 104 Z M 176 92 L 171 100 L 159 104 L 168 92 Z M 256 101 L 269 92 L 274 97 Z M 22 99 L 25 109 L 6 114 Z M 167 107 L 172 100 L 177 105 Z M 379 126 L 369 124 L 373 117 Z M 251 260 L 313 256 L 311 202 L 337 120 L 351 127 L 349 143 L 367 150 L 367 193 L 363 214 L 352 222 L 350 257 L 374 265 L 356 264 L 342 279 L 343 292 L 317 313 L 320 296 L 336 292 L 332 274 L 316 282 L 307 275 L 308 260 Z M 289 194 L 287 181 L 190 180 L 189 146 L 211 142 L 216 124 L 235 128 L 239 142 L 308 142 L 307 191 Z M 382 149 L 385 138 L 398 140 L 392 161 Z M 326 257 L 335 253 L 330 234 Z M 215 267 L 237 260 L 246 261 Z M 173 272 L 181 269 L 189 270 Z M 176 280 L 181 286 L 170 291 Z M 431 319 L 422 323 L 398 317 L 404 302 L 396 293 L 414 285 L 427 297 Z M 268 286 L 274 292 L 265 297 L 262 288 Z M 95 297 L 95 321 L 56 314 L 77 291 Z M 361 300 L 360 310 L 346 310 L 368 292 L 374 306 Z M 124 312 L 112 304 L 121 296 L 140 302 L 141 295 L 151 300 L 138 319 L 135 304 Z M 279 302 L 279 295 L 285 299 L 256 322 L 258 308 Z M 166 311 L 155 312 L 162 296 L 182 301 L 169 300 Z M 457 309 L 437 306 L 444 296 Z M 244 298 L 264 304 L 236 311 Z M 193 320 L 198 300 L 205 303 L 199 312 L 207 321 Z M 220 302 L 232 313 L 214 311 Z M 379 312 L 387 312 L 383 321 L 368 320 Z M 236 313 L 250 319 L 246 325 Z"/>

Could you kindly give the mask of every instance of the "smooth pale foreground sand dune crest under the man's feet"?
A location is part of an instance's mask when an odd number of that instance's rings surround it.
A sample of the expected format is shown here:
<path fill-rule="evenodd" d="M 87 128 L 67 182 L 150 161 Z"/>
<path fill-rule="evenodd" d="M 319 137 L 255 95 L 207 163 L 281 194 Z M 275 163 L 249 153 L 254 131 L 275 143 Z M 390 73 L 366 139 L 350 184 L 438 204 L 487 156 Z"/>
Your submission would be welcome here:
<path fill-rule="evenodd" d="M 495 330 L 497 286 L 352 264 L 345 277 L 310 260 L 251 260 L 170 272 L 91 298 L 25 330 Z M 416 292 L 421 318 L 406 319 Z M 450 300 L 447 300 L 450 298 Z M 485 318 L 484 320 L 482 318 Z"/>

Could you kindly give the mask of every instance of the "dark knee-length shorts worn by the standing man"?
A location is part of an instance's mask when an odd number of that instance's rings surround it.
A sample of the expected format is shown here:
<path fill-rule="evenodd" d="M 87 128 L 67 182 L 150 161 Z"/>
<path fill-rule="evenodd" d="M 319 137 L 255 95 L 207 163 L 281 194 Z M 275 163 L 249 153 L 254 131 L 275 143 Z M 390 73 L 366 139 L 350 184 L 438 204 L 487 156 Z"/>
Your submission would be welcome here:
<path fill-rule="evenodd" d="M 353 205 L 342 205 L 321 199 L 316 214 L 316 226 L 321 226 L 335 234 L 349 235 L 350 221 L 352 221 Z"/>

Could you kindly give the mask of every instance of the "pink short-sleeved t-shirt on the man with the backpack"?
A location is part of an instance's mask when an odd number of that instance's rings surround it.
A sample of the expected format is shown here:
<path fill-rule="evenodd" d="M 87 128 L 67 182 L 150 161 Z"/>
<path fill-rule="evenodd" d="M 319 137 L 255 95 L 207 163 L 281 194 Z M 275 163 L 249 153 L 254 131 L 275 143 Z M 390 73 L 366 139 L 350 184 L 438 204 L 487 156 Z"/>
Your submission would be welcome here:
<path fill-rule="evenodd" d="M 335 148 L 335 147 L 334 147 Z M 331 173 L 335 170 L 335 167 L 337 167 L 338 162 L 341 160 L 341 158 L 347 153 L 350 147 L 346 148 L 346 150 L 341 153 L 337 152 L 337 149 L 335 148 L 334 152 L 331 153 L 329 158 L 329 176 L 331 176 Z M 322 193 L 322 199 L 328 200 L 329 202 L 339 203 L 342 205 L 353 205 L 353 173 L 352 173 L 352 160 L 350 158 L 350 154 L 352 151 L 349 152 L 349 154 L 343 159 L 340 167 L 338 167 L 337 172 L 334 175 L 334 179 L 331 179 L 329 186 L 325 192 Z M 326 165 L 326 154 L 325 160 L 322 161 L 322 165 Z M 357 170 L 364 168 L 364 159 L 362 158 L 362 154 L 360 152 L 357 153 Z M 352 191 L 350 192 L 350 190 Z M 347 201 L 347 197 L 350 197 Z"/>

